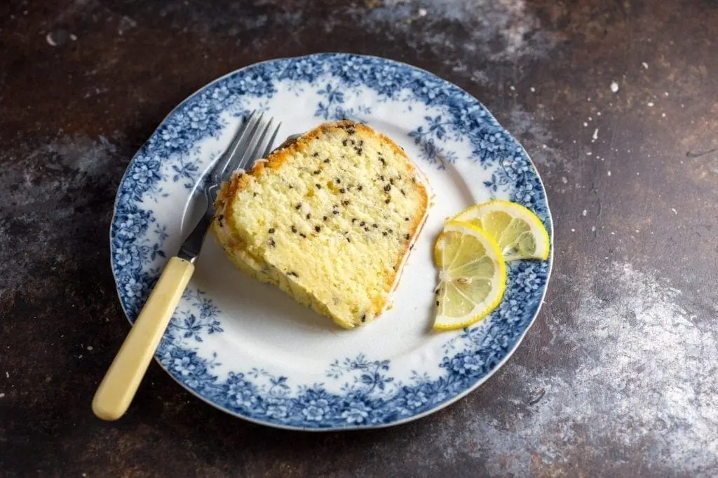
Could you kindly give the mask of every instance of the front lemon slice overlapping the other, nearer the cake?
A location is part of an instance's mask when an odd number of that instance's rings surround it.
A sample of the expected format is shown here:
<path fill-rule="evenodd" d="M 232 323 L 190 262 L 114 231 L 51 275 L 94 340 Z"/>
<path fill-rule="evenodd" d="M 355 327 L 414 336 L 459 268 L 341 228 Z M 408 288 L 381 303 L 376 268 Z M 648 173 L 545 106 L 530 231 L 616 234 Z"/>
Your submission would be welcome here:
<path fill-rule="evenodd" d="M 498 244 L 467 222 L 449 221 L 434 245 L 439 266 L 434 329 L 479 322 L 498 306 L 506 288 L 506 266 Z"/>

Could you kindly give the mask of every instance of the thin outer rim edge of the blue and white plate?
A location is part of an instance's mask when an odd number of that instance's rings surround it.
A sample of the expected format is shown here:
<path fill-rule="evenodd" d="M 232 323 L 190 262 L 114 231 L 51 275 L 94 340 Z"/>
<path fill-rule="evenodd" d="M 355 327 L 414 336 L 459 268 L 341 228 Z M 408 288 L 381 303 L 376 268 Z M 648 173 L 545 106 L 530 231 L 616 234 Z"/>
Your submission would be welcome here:
<path fill-rule="evenodd" d="M 154 130 L 149 134 L 146 141 L 144 141 L 139 146 L 139 148 L 137 149 L 135 154 L 128 161 L 126 169 L 123 172 L 120 181 L 118 182 L 118 188 L 117 188 L 117 192 L 115 195 L 115 201 L 113 202 L 113 211 L 112 211 L 112 217 L 110 220 L 110 228 L 108 231 L 108 239 L 109 239 L 109 244 L 110 244 L 109 263 L 110 263 L 110 269 L 112 271 L 113 280 L 115 282 L 115 293 L 117 295 L 117 299 L 118 299 L 118 302 L 120 303 L 120 307 L 123 311 L 123 314 L 125 315 L 125 318 L 129 322 L 130 327 L 133 327 L 134 322 L 131 321 L 130 314 L 128 313 L 127 309 L 125 308 L 125 304 L 122 301 L 122 297 L 120 295 L 118 277 L 115 273 L 115 268 L 113 267 L 112 228 L 113 228 L 113 224 L 115 223 L 116 215 L 117 215 L 117 211 L 118 211 L 118 202 L 120 200 L 121 186 L 125 182 L 126 175 L 128 174 L 128 172 L 130 170 L 130 166 L 131 166 L 132 162 L 140 154 L 140 151 L 142 151 L 144 146 L 149 143 L 150 139 L 154 136 L 154 134 L 157 133 L 157 131 L 159 131 L 159 128 L 162 127 L 162 125 L 165 123 L 165 121 L 167 121 L 167 119 L 170 116 L 172 116 L 174 114 L 174 112 L 177 111 L 177 109 L 179 109 L 180 107 L 185 105 L 185 103 L 192 100 L 192 98 L 195 98 L 195 96 L 202 93 L 202 91 L 204 91 L 206 88 L 209 88 L 211 85 L 214 85 L 215 83 L 218 83 L 221 80 L 224 80 L 225 78 L 228 78 L 231 75 L 236 75 L 238 73 L 241 73 L 243 70 L 246 70 L 251 67 L 257 67 L 259 65 L 264 65 L 266 63 L 271 63 L 271 62 L 282 62 L 282 61 L 287 61 L 287 60 L 301 60 L 303 58 L 309 58 L 309 57 L 363 57 L 363 58 L 371 58 L 373 60 L 378 60 L 381 62 L 390 62 L 395 65 L 401 66 L 401 67 L 408 67 L 412 70 L 419 70 L 420 72 L 424 73 L 425 75 L 429 75 L 430 77 L 437 79 L 441 82 L 448 83 L 453 88 L 460 90 L 461 93 L 476 100 L 477 103 L 479 103 L 482 106 L 485 113 L 488 115 L 488 118 L 490 118 L 490 120 L 493 120 L 503 131 L 508 133 L 508 135 L 510 136 L 511 139 L 513 139 L 513 141 L 516 143 L 516 145 L 521 148 L 521 151 L 523 151 L 523 154 L 526 156 L 526 159 L 528 159 L 529 163 L 533 167 L 534 172 L 536 173 L 536 179 L 538 180 L 538 183 L 541 184 L 541 188 L 544 190 L 544 196 L 546 198 L 546 222 L 548 222 L 548 224 L 549 224 L 549 231 L 550 231 L 549 232 L 549 242 L 550 242 L 549 251 L 550 251 L 550 253 L 549 253 L 549 258 L 547 259 L 549 267 L 546 270 L 546 286 L 544 286 L 544 291 L 541 293 L 541 297 L 538 301 L 538 306 L 536 307 L 536 311 L 533 313 L 533 317 L 531 317 L 531 321 L 528 322 L 528 324 L 526 325 L 526 328 L 523 330 L 523 332 L 521 332 L 521 335 L 518 337 L 518 339 L 516 339 L 516 343 L 513 345 L 513 347 L 511 347 L 511 349 L 508 351 L 508 353 L 495 365 L 495 367 L 493 367 L 491 370 L 489 370 L 486 375 L 484 375 L 482 378 L 477 380 L 476 383 L 472 384 L 466 390 L 463 390 L 461 393 L 457 393 L 456 395 L 452 396 L 451 398 L 447 398 L 447 400 L 444 400 L 442 403 L 437 404 L 437 406 L 434 406 L 433 408 L 429 408 L 428 410 L 423 411 L 421 413 L 416 413 L 415 415 L 411 415 L 411 416 L 407 416 L 405 418 L 393 420 L 388 423 L 372 423 L 370 425 L 354 425 L 354 424 L 352 424 L 349 426 L 341 426 L 341 427 L 328 426 L 328 427 L 323 427 L 323 428 L 322 427 L 312 428 L 312 427 L 306 427 L 306 426 L 285 425 L 283 423 L 274 423 L 271 421 L 261 421 L 261 420 L 258 420 L 257 418 L 253 418 L 251 416 L 241 415 L 240 413 L 232 411 L 228 408 L 223 408 L 222 406 L 218 405 L 217 403 L 214 403 L 213 401 L 211 401 L 209 398 L 207 398 L 203 395 L 200 395 L 200 393 L 197 393 L 197 391 L 192 390 L 192 388 L 190 388 L 187 384 L 182 383 L 180 380 L 178 380 L 174 376 L 174 374 L 172 374 L 172 372 L 170 372 L 169 369 L 162 364 L 162 361 L 159 360 L 159 357 L 157 357 L 157 352 L 154 352 L 153 358 L 154 358 L 154 361 L 157 362 L 157 364 L 160 367 L 162 367 L 162 370 L 164 370 L 164 372 L 167 372 L 167 375 L 169 375 L 169 377 L 172 378 L 172 380 L 174 380 L 174 382 L 181 385 L 182 388 L 187 390 L 189 393 L 191 393 L 195 397 L 199 398 L 200 400 L 202 400 L 205 403 L 208 403 L 208 405 L 212 406 L 213 408 L 215 408 L 219 411 L 222 411 L 223 413 L 228 413 L 230 416 L 235 416 L 237 418 L 241 418 L 242 420 L 246 420 L 250 423 L 255 423 L 257 425 L 268 426 L 271 428 L 278 428 L 281 430 L 310 431 L 310 432 L 317 432 L 317 433 L 332 432 L 332 431 L 373 430 L 373 429 L 378 429 L 378 428 L 388 428 L 391 426 L 403 425 L 403 424 L 409 423 L 411 421 L 419 420 L 420 418 L 424 418 L 426 416 L 431 415 L 432 413 L 436 413 L 438 411 L 443 410 L 444 408 L 447 408 L 448 406 L 451 406 L 453 403 L 456 403 L 458 400 L 461 400 L 466 395 L 468 395 L 469 393 L 472 393 L 477 388 L 479 388 L 481 385 L 483 385 L 483 383 L 485 383 L 489 378 L 493 377 L 493 375 L 496 372 L 498 372 L 498 370 L 500 370 L 500 368 L 503 367 L 506 362 L 508 362 L 508 360 L 513 356 L 513 354 L 516 352 L 516 350 L 518 350 L 518 347 L 523 342 L 523 339 L 526 338 L 526 335 L 528 334 L 528 331 L 533 326 L 534 322 L 536 322 L 538 313 L 541 311 L 541 307 L 544 305 L 544 300 L 546 299 L 546 293 L 549 290 L 549 283 L 551 282 L 551 273 L 553 272 L 553 268 L 554 268 L 554 219 L 553 219 L 553 215 L 551 215 L 551 207 L 549 206 L 549 197 L 548 197 L 549 195 L 548 195 L 548 191 L 546 189 L 546 185 L 544 184 L 544 179 L 541 177 L 541 174 L 539 174 L 538 168 L 536 168 L 536 164 L 533 162 L 533 159 L 531 159 L 531 156 L 528 154 L 528 151 L 526 151 L 526 148 L 524 148 L 523 144 L 521 144 L 521 142 L 518 141 L 518 139 L 516 139 L 513 136 L 513 134 L 510 133 L 510 131 L 508 131 L 506 128 L 503 127 L 503 125 L 495 118 L 495 116 L 493 116 L 493 113 L 491 113 L 491 111 L 488 108 L 486 108 L 486 106 L 484 106 L 484 104 L 478 98 L 476 98 L 471 93 L 467 92 L 467 90 L 465 90 L 464 88 L 461 88 L 459 85 L 456 85 L 455 83 L 453 83 L 449 80 L 446 80 L 446 79 L 440 77 L 439 75 L 437 75 L 433 72 L 430 72 L 429 70 L 424 70 L 424 68 L 417 67 L 415 65 L 411 65 L 406 62 L 402 62 L 399 60 L 393 60 L 391 58 L 386 58 L 386 57 L 380 57 L 377 55 L 364 55 L 364 54 L 360 54 L 360 53 L 351 53 L 351 52 L 320 52 L 320 53 L 312 53 L 309 55 L 299 55 L 299 56 L 295 56 L 295 57 L 276 57 L 276 58 L 270 58 L 267 60 L 262 60 L 260 62 L 250 63 L 250 64 L 244 65 L 243 67 L 240 67 L 236 70 L 227 72 L 227 73 L 225 73 L 225 75 L 215 78 L 214 80 L 210 81 L 209 83 L 205 83 L 204 85 L 200 86 L 200 88 L 197 88 L 197 90 L 195 90 L 193 93 L 191 93 L 190 95 L 187 95 L 187 97 L 185 97 L 185 99 L 180 101 L 180 103 L 177 103 L 177 105 L 174 106 L 174 108 L 172 108 L 172 110 L 170 110 L 169 113 L 167 113 L 167 115 L 165 115 L 161 121 L 159 121 L 159 123 L 157 124 L 157 127 L 154 128 Z"/>

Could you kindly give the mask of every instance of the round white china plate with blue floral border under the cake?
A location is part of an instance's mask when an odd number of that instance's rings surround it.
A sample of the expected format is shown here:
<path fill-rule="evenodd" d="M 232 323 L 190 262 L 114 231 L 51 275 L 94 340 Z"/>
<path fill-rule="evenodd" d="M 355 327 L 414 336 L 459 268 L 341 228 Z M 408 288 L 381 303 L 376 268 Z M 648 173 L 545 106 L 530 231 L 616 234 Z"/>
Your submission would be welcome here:
<path fill-rule="evenodd" d="M 477 388 L 516 350 L 546 292 L 551 259 L 518 261 L 498 309 L 432 332 L 434 240 L 444 220 L 493 198 L 535 211 L 546 192 L 526 151 L 478 100 L 429 72 L 378 57 L 325 54 L 245 67 L 197 91 L 164 119 L 118 189 L 111 265 L 133 322 L 167 258 L 185 205 L 246 114 L 280 119 L 278 142 L 352 118 L 386 133 L 426 174 L 434 197 L 393 308 L 343 330 L 234 268 L 208 235 L 157 360 L 206 402 L 256 423 L 302 430 L 376 428 L 419 418 Z"/>

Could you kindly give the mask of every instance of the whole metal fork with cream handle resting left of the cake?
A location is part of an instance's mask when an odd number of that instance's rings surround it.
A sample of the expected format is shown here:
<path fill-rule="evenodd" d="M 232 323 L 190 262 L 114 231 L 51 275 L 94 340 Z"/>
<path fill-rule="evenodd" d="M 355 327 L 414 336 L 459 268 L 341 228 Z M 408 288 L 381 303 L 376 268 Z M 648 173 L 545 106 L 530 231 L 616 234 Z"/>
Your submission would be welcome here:
<path fill-rule="evenodd" d="M 134 326 L 95 392 L 92 409 L 98 418 L 117 420 L 129 408 L 174 309 L 195 271 L 195 261 L 215 215 L 215 200 L 220 184 L 228 180 L 237 169 L 246 169 L 254 160 L 269 154 L 281 123 L 273 125 L 273 118 L 265 119 L 264 114 L 258 115 L 253 111 L 239 126 L 230 145 L 216 161 L 205 182 L 207 209 L 180 245 L 177 256 L 167 262 L 157 285 L 149 294 Z"/>

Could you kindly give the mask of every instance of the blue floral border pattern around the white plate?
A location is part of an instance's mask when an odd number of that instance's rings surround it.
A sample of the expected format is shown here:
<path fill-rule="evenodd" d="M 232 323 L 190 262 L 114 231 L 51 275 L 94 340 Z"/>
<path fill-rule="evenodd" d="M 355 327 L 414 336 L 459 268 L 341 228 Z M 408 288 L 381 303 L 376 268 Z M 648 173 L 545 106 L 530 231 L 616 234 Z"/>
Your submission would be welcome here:
<path fill-rule="evenodd" d="M 163 249 L 167 228 L 146 202 L 167 195 L 162 186 L 166 181 L 194 187 L 199 172 L 190 158 L 200 141 L 218 138 L 225 126 L 222 113 L 246 113 L 243 100 L 271 98 L 277 92 L 276 82 L 283 80 L 290 80 L 297 95 L 315 88 L 323 98 L 314 113 L 317 118 L 360 119 L 370 114 L 368 108 L 345 104 L 344 92 L 360 87 L 373 90 L 380 102 L 398 100 L 409 109 L 419 103 L 437 111 L 411 131 L 421 147 L 421 159 L 446 167 L 458 160 L 446 142 L 468 141 L 467 160 L 491 169 L 485 186 L 508 192 L 511 200 L 534 210 L 551 232 L 544 187 L 526 152 L 465 91 L 424 70 L 378 57 L 323 54 L 273 60 L 233 72 L 187 98 L 129 164 L 111 226 L 111 262 L 131 322 L 160 273 L 159 267 L 146 268 L 146 264 L 167 256 Z M 186 388 L 253 421 L 302 429 L 386 426 L 439 408 L 488 378 L 536 317 L 550 268 L 551 261 L 510 264 L 504 301 L 490 320 L 465 329 L 444 345 L 439 378 L 414 372 L 401 382 L 391 374 L 388 360 L 360 355 L 327 367 L 327 380 L 345 380 L 341 393 L 331 393 L 322 383 L 292 387 L 288 378 L 257 369 L 231 372 L 220 381 L 213 375 L 218 357 L 200 357 L 191 346 L 192 340 L 201 341 L 201 333 L 222 332 L 214 319 L 218 311 L 200 291 L 187 292 L 197 312 L 174 317 L 157 357 Z"/>

